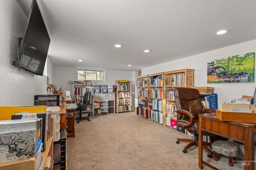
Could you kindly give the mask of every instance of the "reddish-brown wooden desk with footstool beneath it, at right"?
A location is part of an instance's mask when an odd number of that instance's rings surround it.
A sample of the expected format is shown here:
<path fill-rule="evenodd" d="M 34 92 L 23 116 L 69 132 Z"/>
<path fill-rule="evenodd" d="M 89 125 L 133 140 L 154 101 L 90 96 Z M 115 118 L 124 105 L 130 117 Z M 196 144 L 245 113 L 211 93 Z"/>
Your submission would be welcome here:
<path fill-rule="evenodd" d="M 216 113 L 199 114 L 199 156 L 198 166 L 203 168 L 203 164 L 218 170 L 216 167 L 203 161 L 203 137 L 202 131 L 209 132 L 215 135 L 220 135 L 232 139 L 234 141 L 244 143 L 244 160 L 245 170 L 254 170 L 254 152 L 255 152 L 255 138 L 256 138 L 256 123 L 240 123 L 220 121 L 216 118 Z M 247 162 L 246 162 L 247 161 Z M 248 164 L 250 162 L 250 164 Z"/>

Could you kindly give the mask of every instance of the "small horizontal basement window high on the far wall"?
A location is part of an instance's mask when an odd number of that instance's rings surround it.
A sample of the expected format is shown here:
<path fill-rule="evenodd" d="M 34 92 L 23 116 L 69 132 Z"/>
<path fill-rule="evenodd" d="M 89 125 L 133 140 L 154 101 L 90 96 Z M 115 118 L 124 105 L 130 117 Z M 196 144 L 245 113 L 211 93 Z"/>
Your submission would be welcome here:
<path fill-rule="evenodd" d="M 96 80 L 104 81 L 105 71 L 104 70 L 94 70 L 94 69 L 84 69 L 78 68 L 78 80 Z"/>

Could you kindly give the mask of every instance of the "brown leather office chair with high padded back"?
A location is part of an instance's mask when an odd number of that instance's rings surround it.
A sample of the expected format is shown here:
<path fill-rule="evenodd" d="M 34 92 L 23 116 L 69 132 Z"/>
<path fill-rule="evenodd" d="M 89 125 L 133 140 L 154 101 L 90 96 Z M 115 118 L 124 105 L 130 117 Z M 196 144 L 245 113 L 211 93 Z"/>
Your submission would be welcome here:
<path fill-rule="evenodd" d="M 198 145 L 198 114 L 215 112 L 215 109 L 204 109 L 199 100 L 199 92 L 194 88 L 174 88 L 174 100 L 177 107 L 177 130 L 181 127 L 194 135 L 194 139 L 178 138 L 176 141 L 176 143 L 189 142 L 182 150 L 186 153 L 189 148 Z M 203 149 L 208 152 L 207 156 L 212 158 L 212 151 L 204 145 L 211 144 L 204 142 Z"/>

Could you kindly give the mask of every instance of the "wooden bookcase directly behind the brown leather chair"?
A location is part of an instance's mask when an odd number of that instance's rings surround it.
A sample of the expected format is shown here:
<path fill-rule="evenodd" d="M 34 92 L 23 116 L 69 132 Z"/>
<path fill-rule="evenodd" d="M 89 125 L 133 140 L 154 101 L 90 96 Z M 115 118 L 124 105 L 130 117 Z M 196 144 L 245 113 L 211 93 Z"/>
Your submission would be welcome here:
<path fill-rule="evenodd" d="M 194 69 L 164 72 L 164 126 L 169 126 L 168 117 L 176 115 L 173 88 L 192 86 L 194 86 Z"/>

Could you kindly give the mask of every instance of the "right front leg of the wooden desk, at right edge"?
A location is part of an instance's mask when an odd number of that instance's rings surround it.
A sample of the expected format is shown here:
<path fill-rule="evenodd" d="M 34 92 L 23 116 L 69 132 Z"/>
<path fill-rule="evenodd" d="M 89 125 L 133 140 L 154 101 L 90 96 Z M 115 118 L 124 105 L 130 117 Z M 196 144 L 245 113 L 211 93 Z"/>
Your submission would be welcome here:
<path fill-rule="evenodd" d="M 255 145 L 254 145 L 254 128 L 248 127 L 244 132 L 244 169 L 254 170 L 255 168 Z"/>

